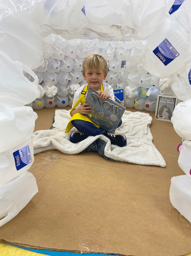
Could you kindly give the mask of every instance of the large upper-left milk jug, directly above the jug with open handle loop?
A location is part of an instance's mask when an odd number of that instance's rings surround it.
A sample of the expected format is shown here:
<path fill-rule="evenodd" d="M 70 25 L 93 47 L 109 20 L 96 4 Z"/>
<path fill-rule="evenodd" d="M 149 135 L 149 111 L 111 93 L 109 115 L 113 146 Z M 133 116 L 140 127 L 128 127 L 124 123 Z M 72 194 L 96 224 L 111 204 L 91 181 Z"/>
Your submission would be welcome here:
<path fill-rule="evenodd" d="M 43 64 L 43 38 L 26 19 L 22 19 L 18 15 L 16 10 L 12 13 L 6 10 L 2 14 L 0 30 L 2 52 L 11 59 L 22 62 L 30 69 L 35 69 Z"/>

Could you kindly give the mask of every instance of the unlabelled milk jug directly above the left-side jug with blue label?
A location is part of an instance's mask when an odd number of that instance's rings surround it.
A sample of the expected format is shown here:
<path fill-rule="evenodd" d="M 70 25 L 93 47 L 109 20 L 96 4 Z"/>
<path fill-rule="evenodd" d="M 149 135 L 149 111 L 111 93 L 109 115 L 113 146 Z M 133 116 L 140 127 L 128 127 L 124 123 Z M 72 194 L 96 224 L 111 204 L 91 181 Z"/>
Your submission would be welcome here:
<path fill-rule="evenodd" d="M 33 133 L 37 117 L 31 107 L 0 104 L 0 153 L 25 142 Z"/>

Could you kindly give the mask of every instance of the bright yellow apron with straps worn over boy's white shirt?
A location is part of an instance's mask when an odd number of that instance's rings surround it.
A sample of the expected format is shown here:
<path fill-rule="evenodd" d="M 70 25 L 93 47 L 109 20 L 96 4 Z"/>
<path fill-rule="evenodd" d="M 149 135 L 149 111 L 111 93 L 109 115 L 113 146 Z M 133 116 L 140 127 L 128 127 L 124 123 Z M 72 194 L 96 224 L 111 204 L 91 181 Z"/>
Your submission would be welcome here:
<path fill-rule="evenodd" d="M 86 87 L 84 88 L 84 91 L 82 91 L 82 95 L 79 97 L 77 103 L 76 103 L 76 104 L 73 106 L 73 108 L 71 109 L 71 111 L 70 111 L 70 116 L 71 116 L 71 112 L 77 107 L 77 105 L 78 105 L 79 103 L 81 103 L 81 104 L 84 104 L 84 103 L 85 103 L 85 94 L 86 94 L 86 92 L 87 92 L 87 89 L 88 89 L 88 85 L 86 85 Z M 103 86 L 102 86 L 102 84 L 101 84 L 100 90 L 103 92 Z M 70 119 L 70 121 L 69 121 L 69 123 L 68 123 L 68 125 L 67 125 L 67 127 L 66 127 L 65 133 L 69 132 L 70 129 L 71 129 L 72 127 L 74 127 L 74 126 L 72 125 L 72 123 L 71 123 L 72 120 L 84 120 L 84 121 L 87 121 L 87 122 L 90 122 L 90 123 L 94 124 L 87 116 L 85 116 L 85 115 L 83 115 L 83 114 L 80 114 L 80 113 L 76 113 L 76 114 L 74 114 L 74 115 L 72 116 L 72 118 Z M 97 125 L 97 124 L 94 124 L 94 125 L 95 125 L 96 127 L 100 127 L 100 126 Z"/>

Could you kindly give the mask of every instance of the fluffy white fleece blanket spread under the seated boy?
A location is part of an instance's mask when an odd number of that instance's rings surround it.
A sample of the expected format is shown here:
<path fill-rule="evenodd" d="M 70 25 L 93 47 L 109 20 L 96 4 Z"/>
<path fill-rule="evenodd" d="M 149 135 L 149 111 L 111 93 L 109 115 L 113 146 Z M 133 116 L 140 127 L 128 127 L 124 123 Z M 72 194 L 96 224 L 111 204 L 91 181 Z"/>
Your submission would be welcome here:
<path fill-rule="evenodd" d="M 118 147 L 111 145 L 110 140 L 104 135 L 89 136 L 79 143 L 69 141 L 72 131 L 64 133 L 70 120 L 70 110 L 56 110 L 54 129 L 40 130 L 32 134 L 34 154 L 50 149 L 57 149 L 65 154 L 77 154 L 98 138 L 106 141 L 104 154 L 114 160 L 140 165 L 157 165 L 165 167 L 166 163 L 162 155 L 152 143 L 152 134 L 149 128 L 152 117 L 149 113 L 125 111 L 122 117 L 122 125 L 115 130 L 115 134 L 125 134 L 127 145 Z"/>

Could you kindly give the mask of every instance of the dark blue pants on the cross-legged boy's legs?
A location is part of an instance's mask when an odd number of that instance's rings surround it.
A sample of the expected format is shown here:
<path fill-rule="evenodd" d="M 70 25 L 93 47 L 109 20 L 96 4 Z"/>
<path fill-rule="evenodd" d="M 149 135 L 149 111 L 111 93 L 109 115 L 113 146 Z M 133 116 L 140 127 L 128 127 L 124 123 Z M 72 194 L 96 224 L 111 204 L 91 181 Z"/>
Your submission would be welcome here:
<path fill-rule="evenodd" d="M 96 135 L 100 135 L 104 132 L 107 132 L 106 130 L 104 130 L 101 127 L 97 127 L 94 124 L 92 124 L 91 122 L 87 122 L 84 120 L 72 120 L 71 121 L 72 125 L 77 128 L 78 131 L 83 132 L 85 134 L 87 134 L 88 136 L 96 136 Z M 120 120 L 118 127 L 120 127 L 122 124 L 122 121 Z"/>

